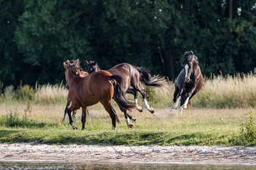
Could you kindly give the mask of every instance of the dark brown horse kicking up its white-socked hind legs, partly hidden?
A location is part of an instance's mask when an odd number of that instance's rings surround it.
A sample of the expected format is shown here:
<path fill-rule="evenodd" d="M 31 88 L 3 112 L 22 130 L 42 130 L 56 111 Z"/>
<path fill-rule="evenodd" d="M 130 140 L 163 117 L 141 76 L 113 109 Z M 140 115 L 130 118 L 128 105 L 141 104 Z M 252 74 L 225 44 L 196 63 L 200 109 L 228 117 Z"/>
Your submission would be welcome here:
<path fill-rule="evenodd" d="M 86 65 L 88 67 L 87 72 L 89 74 L 100 71 L 100 68 L 97 65 L 96 61 L 88 62 L 86 60 Z M 133 66 L 132 64 L 128 63 L 118 64 L 115 67 L 109 69 L 108 71 L 109 73 L 118 75 L 122 78 L 122 80 L 124 81 L 124 88 L 126 92 L 134 95 L 134 103 L 136 104 L 136 109 L 138 111 L 143 111 L 141 106 L 138 105 L 138 92 L 140 92 L 143 97 L 145 108 L 147 108 L 150 113 L 154 113 L 154 109 L 150 107 L 147 102 L 146 91 L 141 85 L 140 81 L 143 81 L 143 83 L 147 86 L 161 87 L 164 89 L 167 85 L 167 81 L 164 77 L 150 76 L 150 72 L 148 70 L 143 69 L 142 67 Z M 130 85 L 133 89 L 129 88 Z"/>

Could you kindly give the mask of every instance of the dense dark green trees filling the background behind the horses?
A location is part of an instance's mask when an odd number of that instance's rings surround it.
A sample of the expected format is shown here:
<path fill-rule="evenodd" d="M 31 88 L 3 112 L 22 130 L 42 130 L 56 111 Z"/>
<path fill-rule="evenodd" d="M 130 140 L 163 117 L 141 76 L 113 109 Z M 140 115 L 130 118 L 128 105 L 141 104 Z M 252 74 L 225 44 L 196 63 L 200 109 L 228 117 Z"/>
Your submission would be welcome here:
<path fill-rule="evenodd" d="M 173 80 L 193 50 L 202 73 L 256 66 L 256 0 L 0 0 L 0 81 L 60 83 L 63 62 L 128 62 Z"/>

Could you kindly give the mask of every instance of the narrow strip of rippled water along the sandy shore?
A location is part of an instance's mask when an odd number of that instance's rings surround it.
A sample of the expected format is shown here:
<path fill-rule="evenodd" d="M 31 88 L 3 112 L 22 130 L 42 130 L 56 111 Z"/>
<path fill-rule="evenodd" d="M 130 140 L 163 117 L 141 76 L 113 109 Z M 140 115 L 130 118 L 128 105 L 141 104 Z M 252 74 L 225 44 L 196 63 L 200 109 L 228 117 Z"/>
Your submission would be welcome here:
<path fill-rule="evenodd" d="M 256 169 L 256 164 L 192 164 L 192 163 L 97 163 L 97 162 L 29 162 L 0 161 L 0 169 Z"/>

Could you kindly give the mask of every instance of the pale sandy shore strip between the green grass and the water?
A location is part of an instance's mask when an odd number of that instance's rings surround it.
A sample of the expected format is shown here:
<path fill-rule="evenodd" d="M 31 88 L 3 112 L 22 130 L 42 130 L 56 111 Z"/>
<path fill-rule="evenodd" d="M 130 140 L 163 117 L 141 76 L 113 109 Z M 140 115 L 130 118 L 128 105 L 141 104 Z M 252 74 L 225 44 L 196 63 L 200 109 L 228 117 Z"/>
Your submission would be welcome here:
<path fill-rule="evenodd" d="M 114 149 L 114 148 L 115 149 Z M 0 144 L 1 160 L 256 163 L 256 147 Z M 119 152 L 119 153 L 117 153 Z"/>

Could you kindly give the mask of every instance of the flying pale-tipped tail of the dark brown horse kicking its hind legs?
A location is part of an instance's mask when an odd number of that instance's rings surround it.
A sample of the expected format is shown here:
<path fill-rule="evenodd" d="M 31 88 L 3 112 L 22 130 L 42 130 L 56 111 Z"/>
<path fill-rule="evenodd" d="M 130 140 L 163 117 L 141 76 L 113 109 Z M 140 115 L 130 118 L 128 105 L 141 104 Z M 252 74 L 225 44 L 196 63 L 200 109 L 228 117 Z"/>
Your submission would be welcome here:
<path fill-rule="evenodd" d="M 165 77 L 151 76 L 147 69 L 143 69 L 142 67 L 137 67 L 140 72 L 140 80 L 145 83 L 145 85 L 153 86 L 153 87 L 161 87 L 164 90 L 167 90 L 168 81 L 166 81 Z"/>

